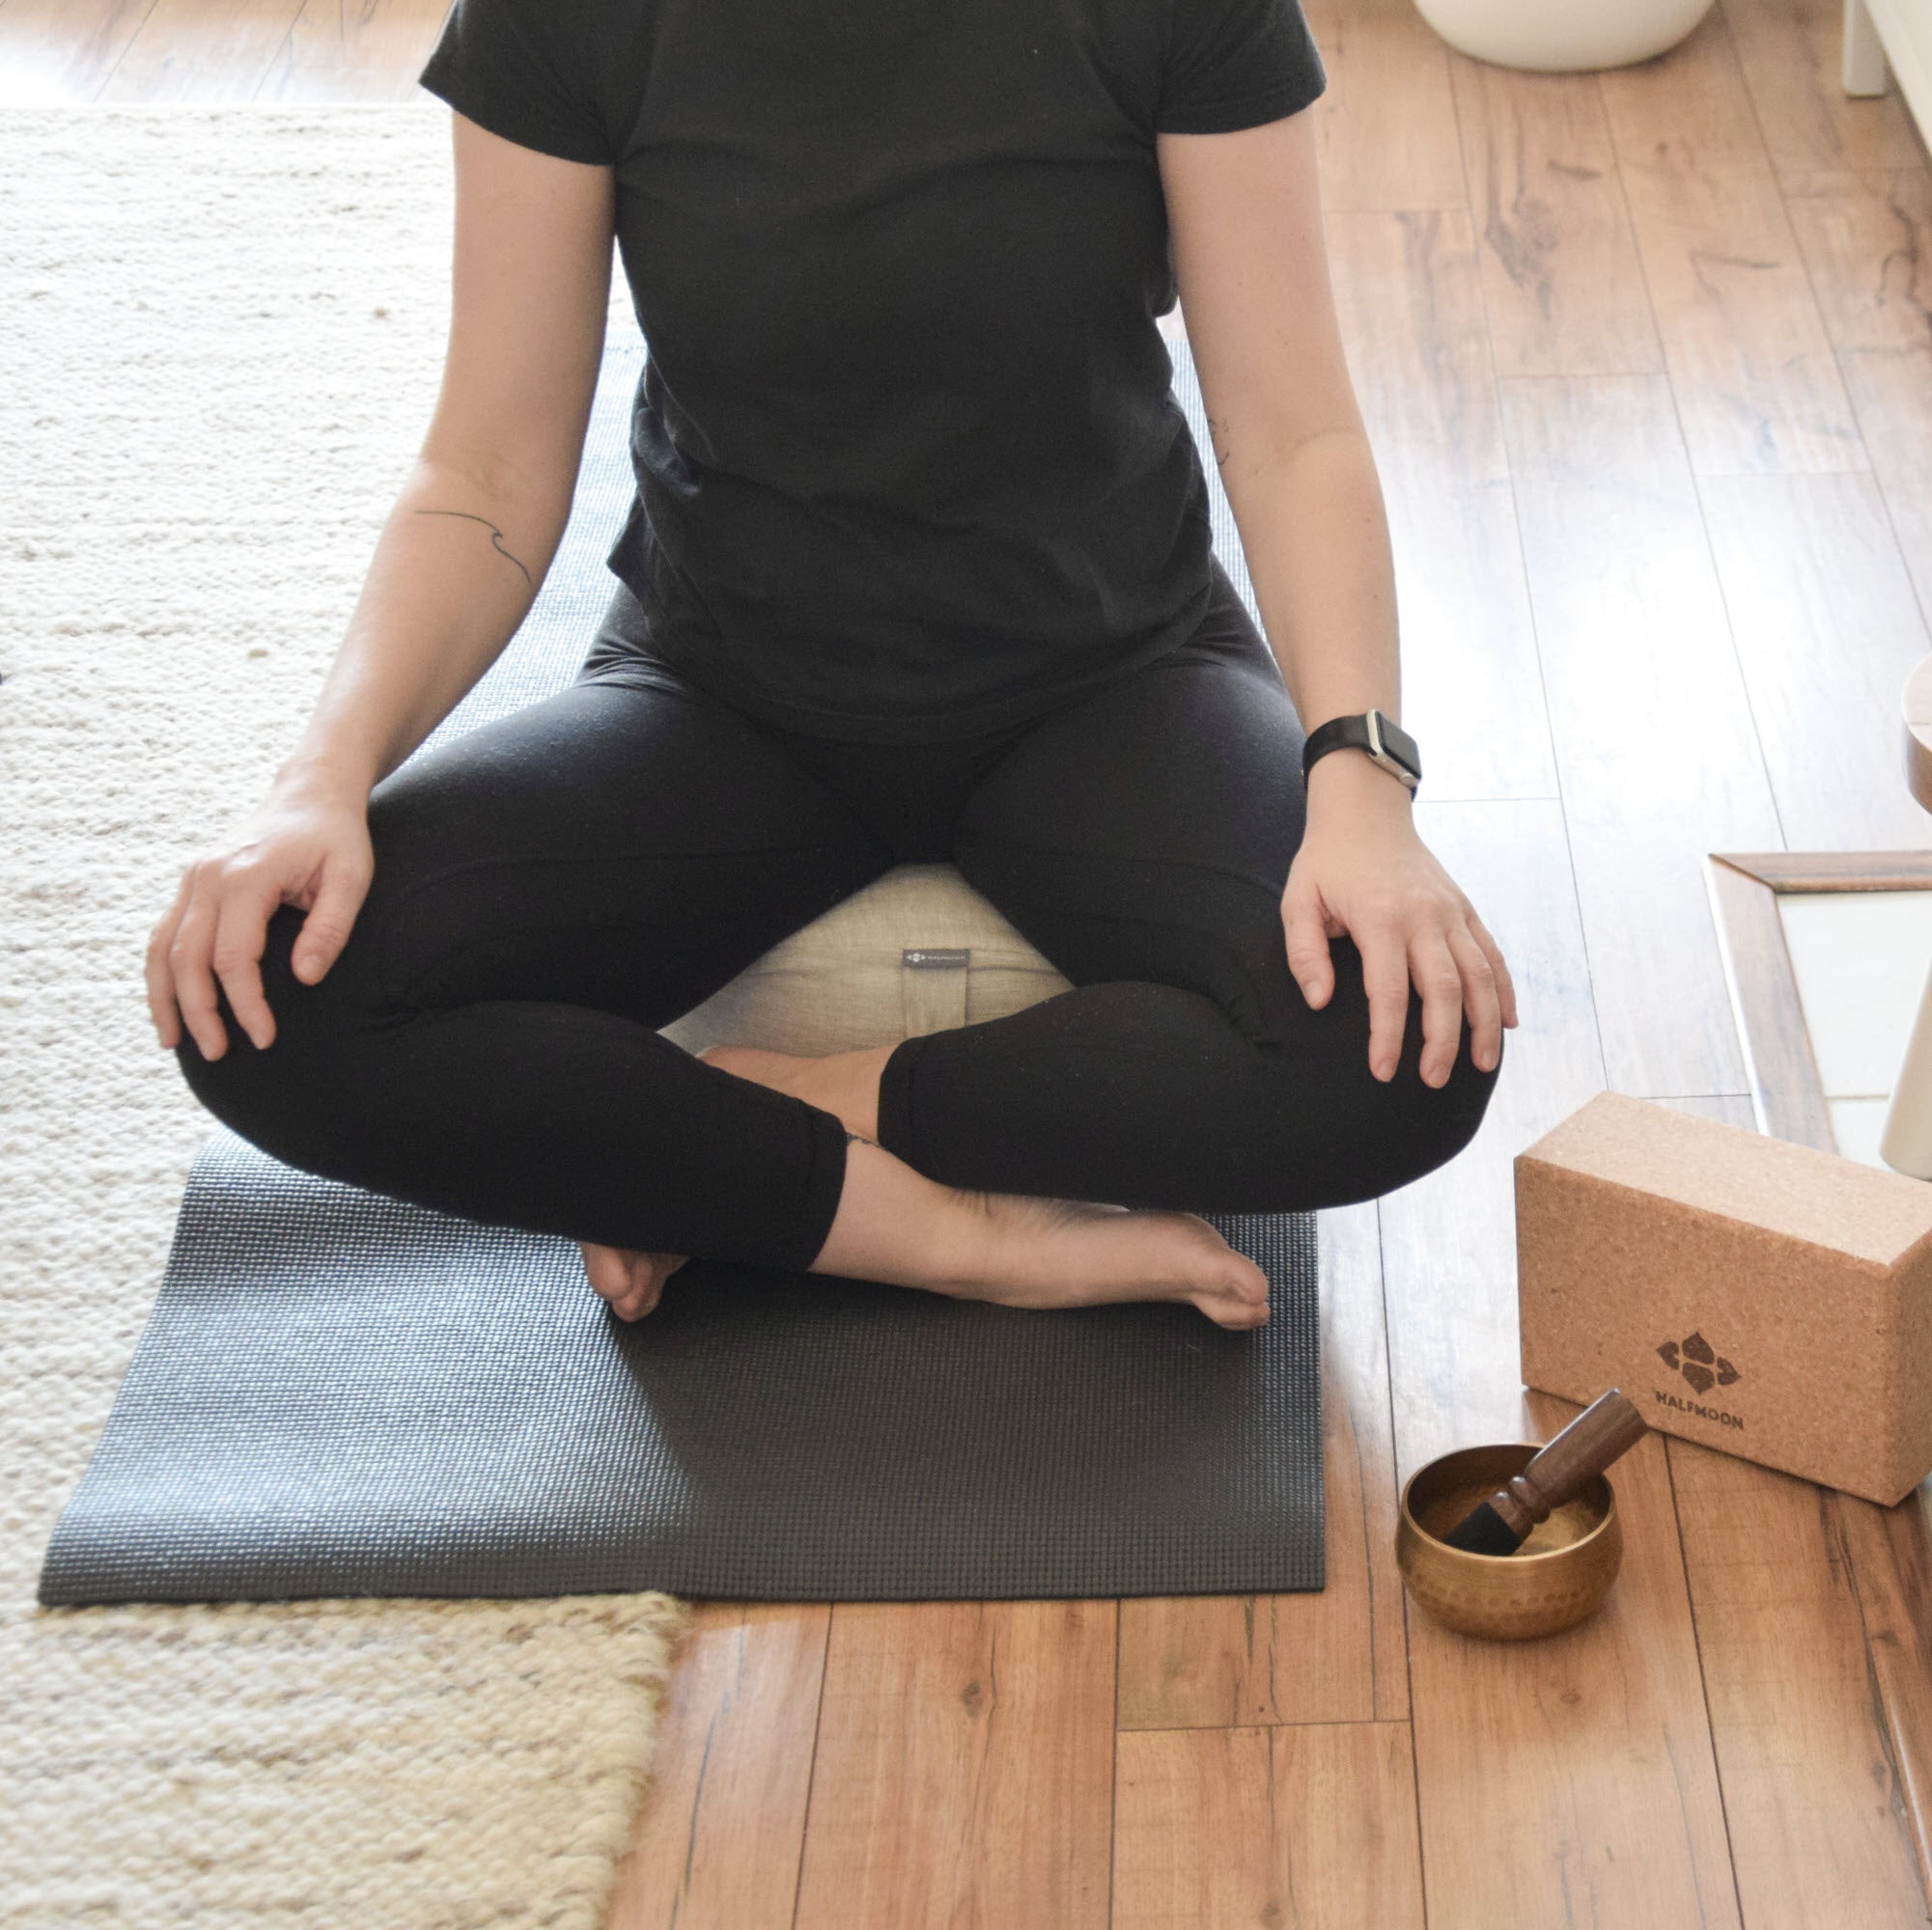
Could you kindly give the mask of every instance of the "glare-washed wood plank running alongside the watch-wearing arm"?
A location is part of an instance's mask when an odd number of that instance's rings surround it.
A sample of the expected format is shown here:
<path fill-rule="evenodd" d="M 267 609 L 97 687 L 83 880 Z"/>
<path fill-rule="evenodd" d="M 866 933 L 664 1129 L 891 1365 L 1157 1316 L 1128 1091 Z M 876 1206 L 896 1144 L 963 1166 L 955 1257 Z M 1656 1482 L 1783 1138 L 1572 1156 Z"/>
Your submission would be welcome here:
<path fill-rule="evenodd" d="M 1403 722 L 1426 793 L 1553 797 L 1468 210 L 1331 214 L 1327 243 L 1389 515 Z"/>

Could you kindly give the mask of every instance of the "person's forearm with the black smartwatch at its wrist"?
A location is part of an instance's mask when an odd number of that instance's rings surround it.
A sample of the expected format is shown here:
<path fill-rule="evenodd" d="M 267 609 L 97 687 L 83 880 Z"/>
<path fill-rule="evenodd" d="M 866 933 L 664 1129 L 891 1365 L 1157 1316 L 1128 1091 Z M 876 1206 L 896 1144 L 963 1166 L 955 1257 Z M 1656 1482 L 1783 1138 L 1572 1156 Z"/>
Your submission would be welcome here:
<path fill-rule="evenodd" d="M 1304 730 L 1381 710 L 1401 722 L 1395 560 L 1381 482 L 1364 436 L 1314 436 L 1298 450 L 1223 469 L 1223 486 L 1275 662 Z M 1366 782 L 1372 780 L 1372 782 Z M 1318 795 L 1376 799 L 1401 784 L 1337 753 L 1308 778 Z"/>

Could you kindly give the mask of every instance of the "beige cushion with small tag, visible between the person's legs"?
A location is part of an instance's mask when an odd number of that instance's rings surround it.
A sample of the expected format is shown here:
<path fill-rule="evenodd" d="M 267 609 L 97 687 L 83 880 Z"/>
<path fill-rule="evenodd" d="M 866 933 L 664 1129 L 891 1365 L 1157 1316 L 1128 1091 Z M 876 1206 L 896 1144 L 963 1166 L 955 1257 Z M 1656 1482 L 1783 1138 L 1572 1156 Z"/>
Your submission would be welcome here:
<path fill-rule="evenodd" d="M 1003 1019 L 1066 988 L 951 865 L 900 865 L 775 944 L 665 1036 L 686 1052 L 858 1052 Z"/>

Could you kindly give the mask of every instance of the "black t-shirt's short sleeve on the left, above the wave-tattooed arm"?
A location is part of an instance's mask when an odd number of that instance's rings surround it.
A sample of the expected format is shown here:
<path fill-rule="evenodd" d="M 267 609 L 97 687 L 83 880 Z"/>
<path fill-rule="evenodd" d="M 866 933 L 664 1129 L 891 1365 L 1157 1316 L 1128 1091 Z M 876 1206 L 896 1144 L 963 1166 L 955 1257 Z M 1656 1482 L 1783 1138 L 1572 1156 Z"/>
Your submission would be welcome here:
<path fill-rule="evenodd" d="M 595 71 L 568 0 L 456 0 L 417 83 L 518 147 L 609 164 L 616 154 Z"/>

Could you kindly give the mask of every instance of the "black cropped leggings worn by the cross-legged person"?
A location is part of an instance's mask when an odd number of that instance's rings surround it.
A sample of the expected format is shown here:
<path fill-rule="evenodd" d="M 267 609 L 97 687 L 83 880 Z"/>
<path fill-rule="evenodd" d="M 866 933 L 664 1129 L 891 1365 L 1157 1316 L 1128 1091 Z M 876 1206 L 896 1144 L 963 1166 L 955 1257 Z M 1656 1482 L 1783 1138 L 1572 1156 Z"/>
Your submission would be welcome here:
<path fill-rule="evenodd" d="M 1457 1154 L 1495 1071 L 1368 1069 L 1349 938 L 1289 975 L 1302 730 L 1227 575 L 1194 637 L 1043 718 L 922 745 L 804 737 L 667 666 L 591 652 L 556 695 L 419 753 L 369 797 L 375 876 L 317 986 L 269 921 L 276 1038 L 220 1000 L 182 1071 L 276 1158 L 469 1220 L 804 1268 L 844 1181 L 838 1119 L 659 1027 L 896 863 L 951 861 L 1072 990 L 908 1038 L 879 1141 L 947 1185 L 1283 1212 Z"/>

